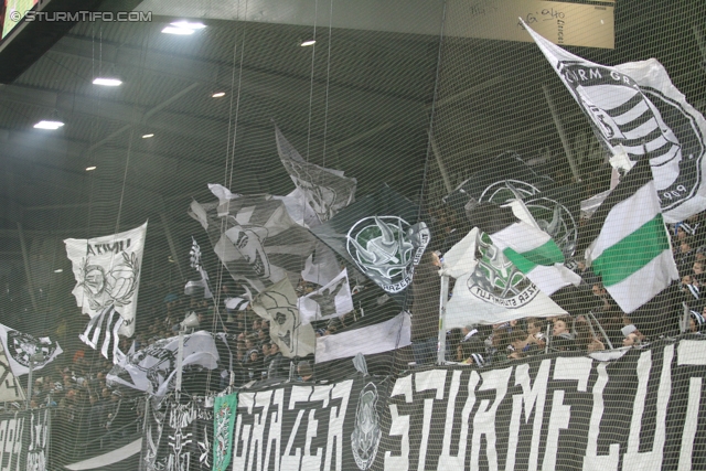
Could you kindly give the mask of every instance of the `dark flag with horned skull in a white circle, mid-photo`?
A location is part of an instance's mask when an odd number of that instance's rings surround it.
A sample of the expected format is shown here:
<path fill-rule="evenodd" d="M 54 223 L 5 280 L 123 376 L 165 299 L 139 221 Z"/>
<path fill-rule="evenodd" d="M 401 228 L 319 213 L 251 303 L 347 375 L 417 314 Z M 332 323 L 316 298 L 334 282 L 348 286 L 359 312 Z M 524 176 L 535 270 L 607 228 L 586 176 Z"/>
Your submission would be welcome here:
<path fill-rule="evenodd" d="M 391 295 L 410 283 L 430 240 L 417 206 L 389 186 L 365 196 L 311 231 Z"/>

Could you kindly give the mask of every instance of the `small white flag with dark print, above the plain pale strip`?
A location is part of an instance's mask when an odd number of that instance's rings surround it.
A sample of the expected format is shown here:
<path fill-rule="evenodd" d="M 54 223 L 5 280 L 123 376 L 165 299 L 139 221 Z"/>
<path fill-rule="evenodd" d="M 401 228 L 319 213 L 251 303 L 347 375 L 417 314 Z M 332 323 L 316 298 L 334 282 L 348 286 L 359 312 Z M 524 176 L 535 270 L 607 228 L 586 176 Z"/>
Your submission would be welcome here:
<path fill-rule="evenodd" d="M 344 268 L 333 280 L 298 300 L 302 324 L 338 318 L 353 310 L 349 274 Z"/>

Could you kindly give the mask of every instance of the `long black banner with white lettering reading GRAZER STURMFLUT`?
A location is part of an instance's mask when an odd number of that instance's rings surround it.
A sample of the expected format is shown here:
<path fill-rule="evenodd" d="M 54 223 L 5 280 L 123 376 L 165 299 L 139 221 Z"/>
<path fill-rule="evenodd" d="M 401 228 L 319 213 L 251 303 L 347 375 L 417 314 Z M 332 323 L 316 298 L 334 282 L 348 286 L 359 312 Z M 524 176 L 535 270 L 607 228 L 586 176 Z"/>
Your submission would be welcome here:
<path fill-rule="evenodd" d="M 704 469 L 706 341 L 240 392 L 233 470 Z"/>

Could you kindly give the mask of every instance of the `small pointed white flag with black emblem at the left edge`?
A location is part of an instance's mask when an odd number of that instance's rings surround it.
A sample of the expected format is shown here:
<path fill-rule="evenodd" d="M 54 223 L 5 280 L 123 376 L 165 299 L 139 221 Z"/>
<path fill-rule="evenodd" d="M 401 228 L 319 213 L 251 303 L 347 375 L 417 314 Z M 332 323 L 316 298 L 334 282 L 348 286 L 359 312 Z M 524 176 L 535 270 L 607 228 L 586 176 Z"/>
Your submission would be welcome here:
<path fill-rule="evenodd" d="M 10 370 L 15 376 L 28 374 L 30 362 L 32 362 L 32 370 L 42 370 L 63 352 L 58 342 L 52 342 L 47 336 L 35 338 L 2 324 L 0 324 L 0 342 L 2 342 Z"/>

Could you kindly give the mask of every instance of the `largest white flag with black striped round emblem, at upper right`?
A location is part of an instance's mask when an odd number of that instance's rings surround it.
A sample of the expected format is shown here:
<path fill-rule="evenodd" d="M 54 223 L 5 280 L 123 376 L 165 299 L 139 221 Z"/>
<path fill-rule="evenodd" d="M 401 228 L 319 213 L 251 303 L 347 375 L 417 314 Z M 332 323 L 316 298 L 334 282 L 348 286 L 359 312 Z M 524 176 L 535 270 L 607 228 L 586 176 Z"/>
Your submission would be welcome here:
<path fill-rule="evenodd" d="M 676 223 L 706 208 L 706 119 L 654 58 L 612 67 L 553 44 L 525 24 L 612 156 L 650 153 L 662 214 Z M 646 157 L 645 157 L 646 158 Z"/>

